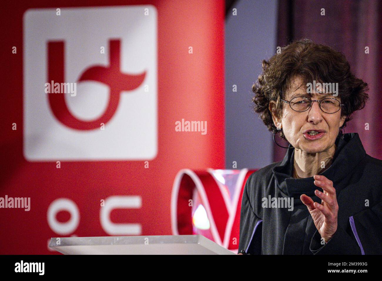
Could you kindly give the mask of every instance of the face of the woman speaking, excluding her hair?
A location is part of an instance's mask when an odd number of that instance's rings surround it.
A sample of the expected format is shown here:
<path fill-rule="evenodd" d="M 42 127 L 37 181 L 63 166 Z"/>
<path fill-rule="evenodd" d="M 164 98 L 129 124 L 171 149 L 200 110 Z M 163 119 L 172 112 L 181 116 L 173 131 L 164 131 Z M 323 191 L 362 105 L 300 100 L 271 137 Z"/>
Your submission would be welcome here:
<path fill-rule="evenodd" d="M 285 100 L 290 101 L 296 96 L 306 96 L 314 100 L 322 100 L 324 97 L 333 97 L 341 101 L 340 97 L 333 96 L 327 93 L 314 93 L 313 97 L 307 96 L 306 87 L 301 86 L 303 80 L 301 78 L 295 78 L 292 83 L 290 90 L 287 91 Z M 299 86 L 301 86 L 299 88 Z M 322 89 L 317 88 L 320 91 Z M 273 102 L 275 104 L 275 102 Z M 270 106 L 271 107 L 271 106 Z M 272 112 L 272 110 L 271 110 Z M 335 113 L 329 114 L 325 113 L 320 109 L 318 102 L 312 102 L 312 106 L 304 111 L 297 112 L 289 106 L 289 104 L 283 105 L 282 117 L 277 118 L 273 115 L 273 120 L 275 126 L 282 128 L 286 140 L 288 140 L 293 147 L 297 149 L 302 149 L 308 153 L 318 153 L 326 151 L 331 148 L 337 138 L 339 128 L 345 122 L 346 116 L 341 118 L 341 109 Z M 317 135 L 316 139 L 312 140 L 313 137 L 304 135 L 306 130 L 323 130 L 322 136 Z"/>

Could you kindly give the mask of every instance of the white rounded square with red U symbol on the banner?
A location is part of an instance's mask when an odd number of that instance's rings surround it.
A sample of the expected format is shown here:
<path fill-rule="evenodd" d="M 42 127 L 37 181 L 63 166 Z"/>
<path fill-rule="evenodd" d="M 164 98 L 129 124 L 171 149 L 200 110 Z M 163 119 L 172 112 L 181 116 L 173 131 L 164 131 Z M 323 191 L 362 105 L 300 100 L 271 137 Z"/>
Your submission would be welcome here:
<path fill-rule="evenodd" d="M 62 8 L 60 15 L 56 9 L 30 9 L 23 28 L 28 161 L 155 158 L 155 6 Z M 116 55 L 119 60 L 112 60 Z M 45 93 L 50 77 L 63 77 L 55 83 L 76 83 L 76 95 Z M 107 120 L 103 130 L 97 120 Z"/>

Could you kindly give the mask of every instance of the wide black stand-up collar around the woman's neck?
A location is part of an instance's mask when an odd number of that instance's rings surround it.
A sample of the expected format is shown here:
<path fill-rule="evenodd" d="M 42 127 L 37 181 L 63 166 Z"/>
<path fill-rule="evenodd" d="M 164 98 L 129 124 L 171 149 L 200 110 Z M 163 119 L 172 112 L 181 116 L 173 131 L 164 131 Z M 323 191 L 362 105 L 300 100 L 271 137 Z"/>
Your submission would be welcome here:
<path fill-rule="evenodd" d="M 320 174 L 333 181 L 337 195 L 343 188 L 343 186 L 338 185 L 338 183 L 347 177 L 366 156 L 366 151 L 359 139 L 358 133 L 346 133 L 343 136 L 343 140 L 338 136 L 335 141 L 337 149 L 334 153 L 332 164 Z M 291 147 L 291 145 L 289 145 L 289 147 Z M 301 194 L 316 197 L 314 190 L 320 190 L 320 188 L 314 185 L 313 177 L 303 179 L 293 178 L 294 154 L 295 149 L 288 149 L 283 161 L 273 168 L 278 188 L 289 197 L 298 200 Z"/>

